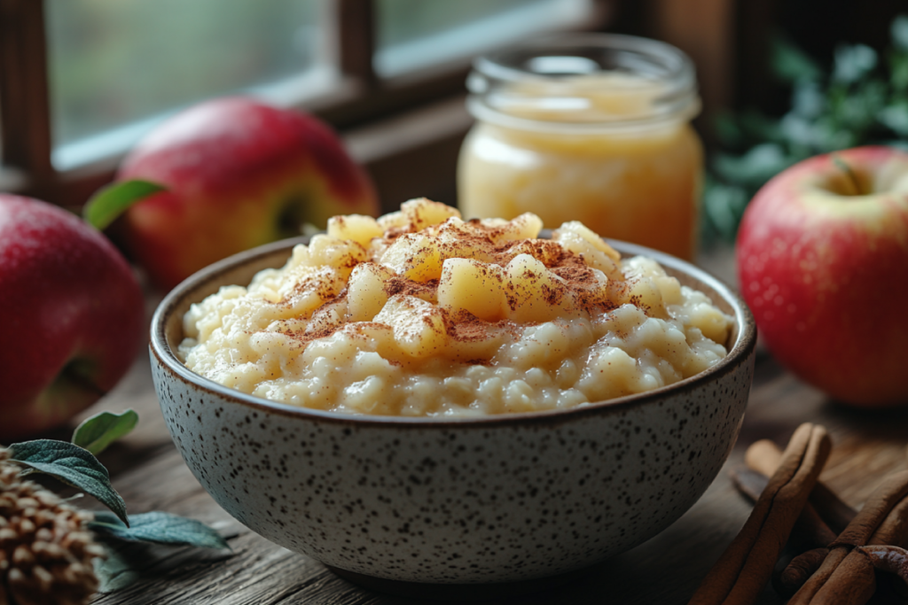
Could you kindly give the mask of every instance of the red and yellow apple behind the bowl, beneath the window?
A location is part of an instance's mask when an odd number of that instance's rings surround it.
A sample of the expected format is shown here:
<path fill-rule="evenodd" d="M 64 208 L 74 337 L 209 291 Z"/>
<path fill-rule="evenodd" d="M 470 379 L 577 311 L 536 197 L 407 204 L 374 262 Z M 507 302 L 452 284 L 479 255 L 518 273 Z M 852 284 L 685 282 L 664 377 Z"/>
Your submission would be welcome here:
<path fill-rule="evenodd" d="M 202 102 L 163 122 L 124 159 L 117 181 L 167 190 L 125 213 L 125 241 L 153 282 L 172 288 L 235 252 L 371 214 L 366 173 L 324 123 L 242 97 Z"/>

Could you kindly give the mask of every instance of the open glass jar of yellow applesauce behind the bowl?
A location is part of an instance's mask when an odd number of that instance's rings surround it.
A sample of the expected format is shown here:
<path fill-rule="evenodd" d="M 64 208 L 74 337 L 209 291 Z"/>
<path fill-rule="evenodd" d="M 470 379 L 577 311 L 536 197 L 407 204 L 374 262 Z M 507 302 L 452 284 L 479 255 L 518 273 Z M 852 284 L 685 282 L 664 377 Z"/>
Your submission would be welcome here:
<path fill-rule="evenodd" d="M 694 65 L 669 44 L 582 34 L 480 57 L 460 150 L 464 219 L 534 212 L 696 253 L 703 146 Z"/>

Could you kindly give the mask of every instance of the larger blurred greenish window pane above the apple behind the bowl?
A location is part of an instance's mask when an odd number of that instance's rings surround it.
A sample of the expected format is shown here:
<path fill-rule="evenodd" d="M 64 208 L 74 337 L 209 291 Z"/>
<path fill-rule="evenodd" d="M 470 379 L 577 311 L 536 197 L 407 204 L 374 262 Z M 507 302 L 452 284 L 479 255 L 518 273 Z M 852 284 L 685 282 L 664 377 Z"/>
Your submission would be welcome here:
<path fill-rule="evenodd" d="M 205 97 L 331 82 L 323 0 L 45 0 L 54 164 L 132 144 Z"/>

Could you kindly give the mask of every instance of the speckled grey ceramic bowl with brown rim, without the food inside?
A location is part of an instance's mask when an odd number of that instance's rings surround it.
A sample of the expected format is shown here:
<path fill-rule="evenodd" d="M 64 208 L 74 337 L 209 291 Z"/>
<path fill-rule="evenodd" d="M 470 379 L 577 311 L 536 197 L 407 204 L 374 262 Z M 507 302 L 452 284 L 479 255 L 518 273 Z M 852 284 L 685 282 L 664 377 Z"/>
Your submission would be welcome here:
<path fill-rule="evenodd" d="M 755 327 L 734 292 L 656 258 L 735 317 L 730 353 L 643 395 L 468 420 L 341 415 L 281 405 L 193 374 L 183 314 L 222 285 L 280 267 L 287 240 L 187 279 L 152 323 L 154 385 L 173 441 L 214 500 L 254 532 L 348 577 L 486 584 L 564 577 L 662 531 L 735 443 Z"/>

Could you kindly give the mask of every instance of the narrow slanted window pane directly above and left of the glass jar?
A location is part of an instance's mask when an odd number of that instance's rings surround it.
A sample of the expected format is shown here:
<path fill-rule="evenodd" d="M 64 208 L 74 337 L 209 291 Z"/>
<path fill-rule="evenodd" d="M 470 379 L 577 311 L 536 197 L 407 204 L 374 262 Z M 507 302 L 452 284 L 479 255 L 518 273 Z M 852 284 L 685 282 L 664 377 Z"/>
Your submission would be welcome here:
<path fill-rule="evenodd" d="M 592 0 L 376 0 L 375 71 L 389 76 L 583 24 Z"/>

